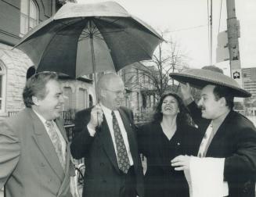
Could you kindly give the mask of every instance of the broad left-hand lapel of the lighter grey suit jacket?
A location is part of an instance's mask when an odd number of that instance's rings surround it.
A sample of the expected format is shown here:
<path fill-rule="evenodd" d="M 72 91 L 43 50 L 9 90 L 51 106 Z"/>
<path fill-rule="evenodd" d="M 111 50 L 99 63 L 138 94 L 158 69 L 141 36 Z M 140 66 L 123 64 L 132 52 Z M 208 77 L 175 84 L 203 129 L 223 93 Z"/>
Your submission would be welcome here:
<path fill-rule="evenodd" d="M 52 141 L 45 130 L 45 126 L 41 123 L 41 120 L 38 116 L 30 109 L 31 118 L 34 124 L 34 141 L 36 141 L 38 148 L 41 150 L 45 159 L 48 161 L 49 165 L 52 167 L 52 170 L 56 172 L 60 180 L 63 180 L 65 176 L 64 170 L 59 163 L 56 150 L 52 145 Z"/>

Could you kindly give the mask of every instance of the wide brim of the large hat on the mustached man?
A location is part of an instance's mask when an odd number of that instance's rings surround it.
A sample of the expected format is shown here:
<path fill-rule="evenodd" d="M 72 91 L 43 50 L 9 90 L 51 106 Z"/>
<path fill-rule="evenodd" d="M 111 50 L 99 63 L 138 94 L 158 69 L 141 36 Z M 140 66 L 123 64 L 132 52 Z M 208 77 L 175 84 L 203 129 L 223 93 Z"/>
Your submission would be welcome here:
<path fill-rule="evenodd" d="M 213 84 L 230 88 L 234 97 L 250 97 L 251 93 L 244 90 L 233 78 L 223 73 L 204 69 L 187 69 L 181 73 L 170 73 L 171 78 L 181 83 L 189 83 L 196 88 L 204 88 L 207 84 Z"/>

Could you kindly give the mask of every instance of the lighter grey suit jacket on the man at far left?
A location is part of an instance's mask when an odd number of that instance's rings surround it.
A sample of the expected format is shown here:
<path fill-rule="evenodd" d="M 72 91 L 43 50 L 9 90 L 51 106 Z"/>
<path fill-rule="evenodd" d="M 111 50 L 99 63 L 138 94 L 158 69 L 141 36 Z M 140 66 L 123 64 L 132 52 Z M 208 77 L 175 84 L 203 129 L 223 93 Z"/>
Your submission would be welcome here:
<path fill-rule="evenodd" d="M 63 125 L 56 120 L 67 141 Z M 67 141 L 68 143 L 68 141 Z M 0 124 L 0 187 L 7 197 L 71 197 L 70 148 L 63 170 L 41 120 L 30 108 Z"/>

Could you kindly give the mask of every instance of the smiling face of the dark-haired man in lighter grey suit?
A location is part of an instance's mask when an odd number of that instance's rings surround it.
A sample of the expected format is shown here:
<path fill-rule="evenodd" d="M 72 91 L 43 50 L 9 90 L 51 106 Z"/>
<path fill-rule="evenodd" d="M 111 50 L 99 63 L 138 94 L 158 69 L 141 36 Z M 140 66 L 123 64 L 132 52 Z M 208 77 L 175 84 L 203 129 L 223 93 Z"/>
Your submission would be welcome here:
<path fill-rule="evenodd" d="M 45 118 L 45 120 L 54 120 L 60 116 L 63 111 L 63 91 L 59 82 L 55 80 L 48 81 L 45 84 L 45 98 L 34 96 L 34 109 Z"/>

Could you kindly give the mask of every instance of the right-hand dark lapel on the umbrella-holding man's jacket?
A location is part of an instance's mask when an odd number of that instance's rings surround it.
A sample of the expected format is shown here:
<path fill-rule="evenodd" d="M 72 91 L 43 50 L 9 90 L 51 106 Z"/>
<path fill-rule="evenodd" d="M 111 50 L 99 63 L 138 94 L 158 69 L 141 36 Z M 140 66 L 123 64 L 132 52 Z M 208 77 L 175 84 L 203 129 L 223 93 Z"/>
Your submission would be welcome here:
<path fill-rule="evenodd" d="M 125 131 L 127 133 L 128 143 L 130 146 L 133 163 L 136 168 L 137 167 L 136 164 L 138 163 L 138 160 L 137 160 L 138 159 L 138 154 L 137 154 L 138 149 L 137 149 L 137 145 L 135 142 L 135 135 L 132 132 L 132 124 L 131 124 L 131 121 L 128 119 L 128 116 L 124 113 L 124 111 L 122 109 L 118 109 L 118 111 L 121 115 L 121 119 L 123 121 Z"/>

